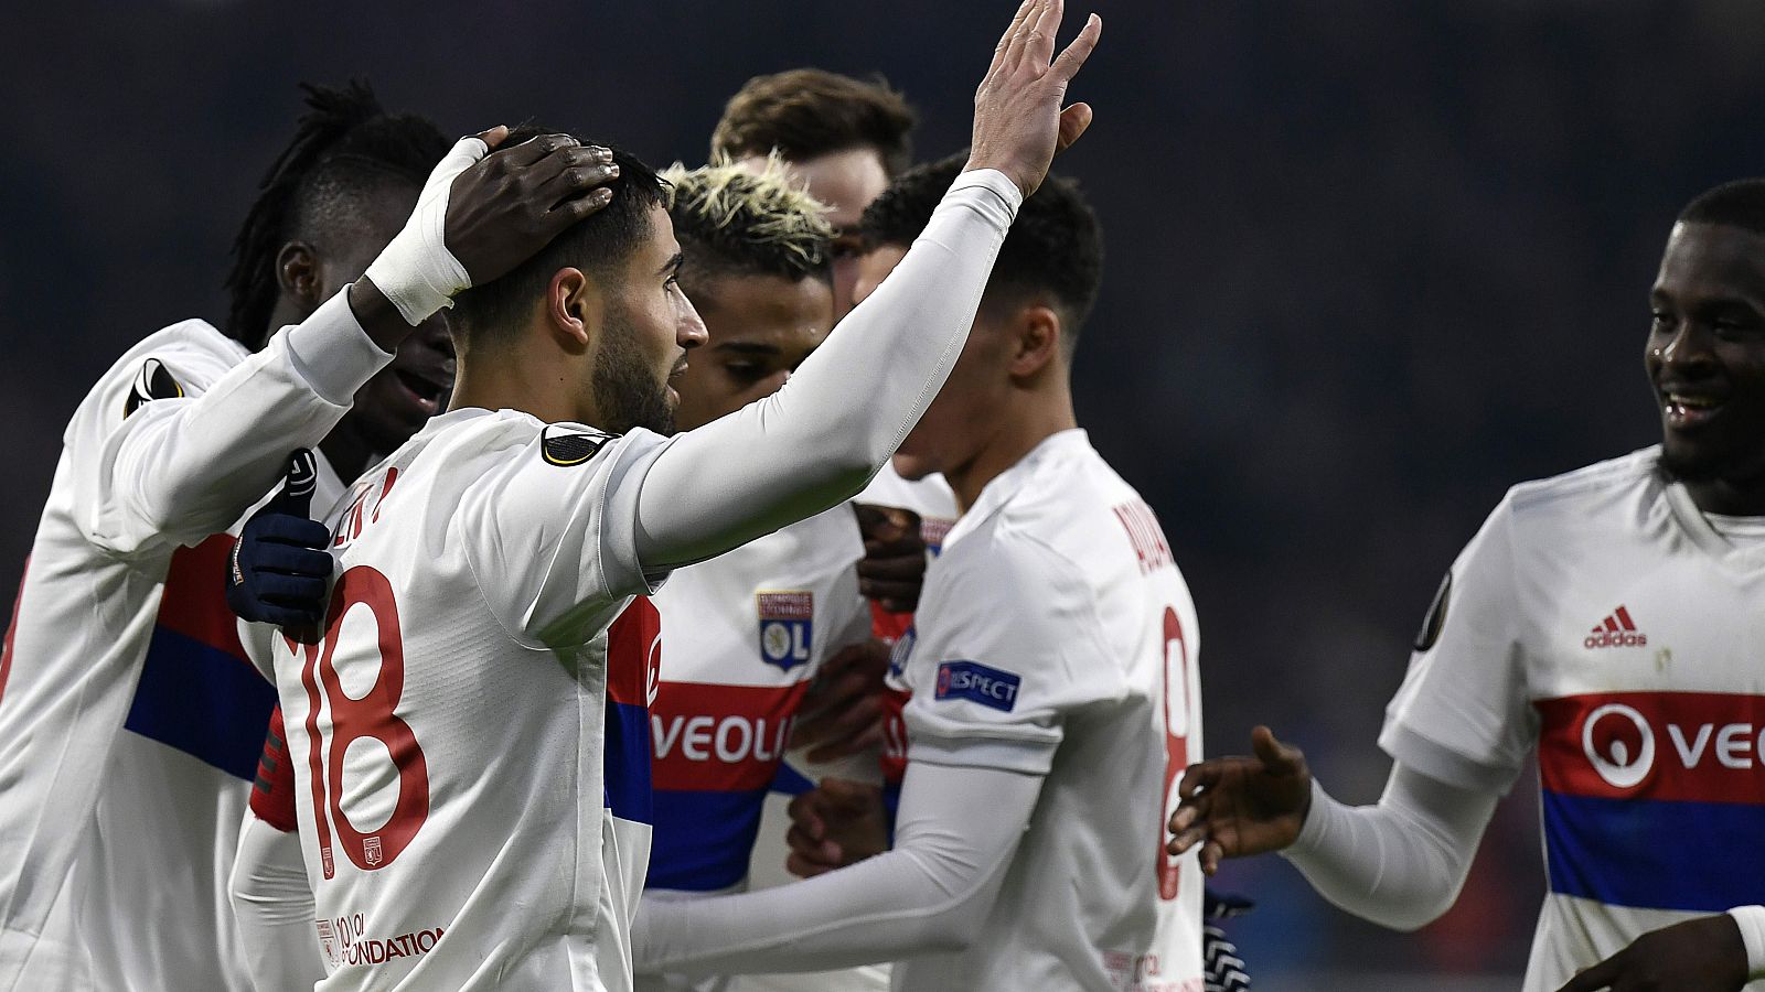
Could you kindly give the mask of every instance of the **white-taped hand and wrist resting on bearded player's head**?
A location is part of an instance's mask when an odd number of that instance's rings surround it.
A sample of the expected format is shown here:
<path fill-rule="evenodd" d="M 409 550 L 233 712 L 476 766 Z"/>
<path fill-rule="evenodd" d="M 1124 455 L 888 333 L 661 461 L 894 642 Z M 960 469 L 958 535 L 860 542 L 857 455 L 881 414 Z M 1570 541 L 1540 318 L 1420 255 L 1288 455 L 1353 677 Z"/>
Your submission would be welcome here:
<path fill-rule="evenodd" d="M 417 327 L 454 295 L 533 258 L 565 228 L 612 201 L 612 152 L 568 134 L 498 148 L 507 127 L 462 138 L 429 173 L 404 229 L 349 288 L 349 307 L 381 346 Z M 491 148 L 498 148 L 491 154 Z"/>

